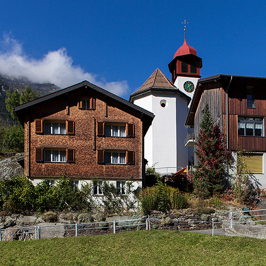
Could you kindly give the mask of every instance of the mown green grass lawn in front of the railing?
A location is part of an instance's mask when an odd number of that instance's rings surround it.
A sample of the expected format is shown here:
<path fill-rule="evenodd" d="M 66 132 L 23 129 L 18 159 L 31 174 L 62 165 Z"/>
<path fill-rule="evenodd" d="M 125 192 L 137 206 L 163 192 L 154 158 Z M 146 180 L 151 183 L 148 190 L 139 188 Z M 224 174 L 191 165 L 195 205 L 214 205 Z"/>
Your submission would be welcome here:
<path fill-rule="evenodd" d="M 266 240 L 179 231 L 0 242 L 3 266 L 257 266 Z"/>

